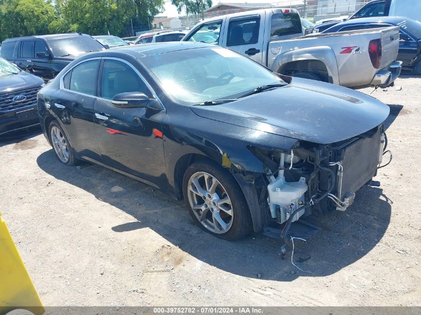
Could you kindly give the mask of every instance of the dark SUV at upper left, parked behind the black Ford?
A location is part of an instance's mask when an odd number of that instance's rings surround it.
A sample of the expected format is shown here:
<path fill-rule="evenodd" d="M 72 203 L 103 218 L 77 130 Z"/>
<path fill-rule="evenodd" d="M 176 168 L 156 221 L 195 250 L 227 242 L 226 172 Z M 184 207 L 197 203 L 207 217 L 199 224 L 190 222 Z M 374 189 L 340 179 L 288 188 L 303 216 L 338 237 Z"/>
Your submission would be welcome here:
<path fill-rule="evenodd" d="M 1 57 L 48 81 L 81 54 L 104 49 L 86 34 L 26 36 L 5 39 L 1 44 Z"/>

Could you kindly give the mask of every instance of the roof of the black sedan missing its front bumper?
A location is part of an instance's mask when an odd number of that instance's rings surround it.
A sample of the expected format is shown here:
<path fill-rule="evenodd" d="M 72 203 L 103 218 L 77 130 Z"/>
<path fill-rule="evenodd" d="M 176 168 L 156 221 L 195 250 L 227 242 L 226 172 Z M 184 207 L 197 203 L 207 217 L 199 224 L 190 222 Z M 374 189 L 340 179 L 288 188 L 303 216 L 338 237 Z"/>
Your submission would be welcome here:
<path fill-rule="evenodd" d="M 140 45 L 131 45 L 123 47 L 113 47 L 106 51 L 100 51 L 97 53 L 89 54 L 94 56 L 96 54 L 107 54 L 108 52 L 122 52 L 129 54 L 136 58 L 162 54 L 171 51 L 177 50 L 186 50 L 193 48 L 204 48 L 204 47 L 213 47 L 218 48 L 213 44 L 199 43 L 199 42 L 162 42 L 162 43 L 150 43 L 150 44 L 140 44 Z"/>

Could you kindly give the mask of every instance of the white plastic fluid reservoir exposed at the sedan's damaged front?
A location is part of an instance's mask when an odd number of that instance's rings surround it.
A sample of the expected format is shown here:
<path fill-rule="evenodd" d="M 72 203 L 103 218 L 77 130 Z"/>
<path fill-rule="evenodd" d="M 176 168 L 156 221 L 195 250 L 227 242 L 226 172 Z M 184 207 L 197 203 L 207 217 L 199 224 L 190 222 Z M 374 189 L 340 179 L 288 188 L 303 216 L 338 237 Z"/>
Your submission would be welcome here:
<path fill-rule="evenodd" d="M 285 222 L 289 215 L 304 204 L 304 193 L 308 186 L 305 178 L 301 177 L 298 182 L 285 182 L 285 177 L 280 174 L 275 181 L 268 185 L 269 208 L 273 218 L 277 217 L 277 210 L 281 210 L 281 223 Z M 298 211 L 292 221 L 304 214 L 305 210 Z"/>

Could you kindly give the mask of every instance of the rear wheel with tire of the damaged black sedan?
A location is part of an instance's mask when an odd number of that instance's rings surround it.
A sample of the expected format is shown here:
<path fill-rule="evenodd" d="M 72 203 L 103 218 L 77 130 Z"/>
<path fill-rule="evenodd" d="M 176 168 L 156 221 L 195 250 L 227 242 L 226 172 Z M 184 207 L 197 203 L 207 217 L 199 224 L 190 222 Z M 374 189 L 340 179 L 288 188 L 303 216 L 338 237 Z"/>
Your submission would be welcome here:
<path fill-rule="evenodd" d="M 58 160 L 68 166 L 75 165 L 77 160 L 73 153 L 73 147 L 58 121 L 51 121 L 48 130 L 50 142 Z"/>

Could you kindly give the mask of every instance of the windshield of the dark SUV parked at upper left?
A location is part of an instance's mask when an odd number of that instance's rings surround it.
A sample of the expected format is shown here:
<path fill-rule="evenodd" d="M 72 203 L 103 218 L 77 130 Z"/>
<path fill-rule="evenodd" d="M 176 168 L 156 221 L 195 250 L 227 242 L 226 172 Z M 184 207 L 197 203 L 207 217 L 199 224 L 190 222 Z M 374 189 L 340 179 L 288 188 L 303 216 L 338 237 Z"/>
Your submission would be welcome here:
<path fill-rule="evenodd" d="M 56 57 L 79 55 L 90 51 L 103 50 L 104 46 L 91 36 L 75 36 L 48 40 L 48 44 Z"/>

